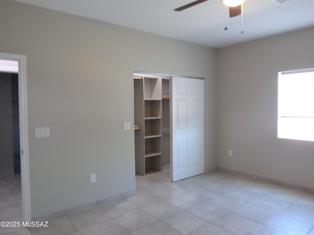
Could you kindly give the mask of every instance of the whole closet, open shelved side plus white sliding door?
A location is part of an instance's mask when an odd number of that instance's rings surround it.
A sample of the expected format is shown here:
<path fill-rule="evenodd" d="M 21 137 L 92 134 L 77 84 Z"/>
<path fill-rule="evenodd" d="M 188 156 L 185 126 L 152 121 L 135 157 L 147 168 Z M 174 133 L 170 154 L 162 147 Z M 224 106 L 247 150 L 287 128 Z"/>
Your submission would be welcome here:
<path fill-rule="evenodd" d="M 203 174 L 205 79 L 134 72 L 133 81 L 135 174 L 172 182 Z"/>

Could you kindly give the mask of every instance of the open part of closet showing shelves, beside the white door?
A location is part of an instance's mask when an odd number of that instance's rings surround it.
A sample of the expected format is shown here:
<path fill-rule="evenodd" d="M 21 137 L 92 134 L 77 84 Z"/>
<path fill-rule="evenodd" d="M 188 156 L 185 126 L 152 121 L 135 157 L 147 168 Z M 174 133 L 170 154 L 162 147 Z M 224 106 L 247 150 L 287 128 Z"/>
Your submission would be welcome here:
<path fill-rule="evenodd" d="M 134 73 L 135 174 L 170 175 L 170 77 Z"/>

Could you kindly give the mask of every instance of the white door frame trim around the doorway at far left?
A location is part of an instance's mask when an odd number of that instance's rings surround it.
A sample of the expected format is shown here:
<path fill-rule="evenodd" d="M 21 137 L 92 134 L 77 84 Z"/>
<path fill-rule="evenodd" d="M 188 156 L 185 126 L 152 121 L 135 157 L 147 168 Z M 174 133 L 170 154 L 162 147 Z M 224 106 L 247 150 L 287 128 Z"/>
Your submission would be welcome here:
<path fill-rule="evenodd" d="M 21 183 L 23 221 L 31 221 L 28 127 L 27 127 L 27 90 L 26 90 L 26 55 L 0 52 L 0 59 L 19 62 L 19 112 L 20 112 L 20 148 L 21 148 Z"/>

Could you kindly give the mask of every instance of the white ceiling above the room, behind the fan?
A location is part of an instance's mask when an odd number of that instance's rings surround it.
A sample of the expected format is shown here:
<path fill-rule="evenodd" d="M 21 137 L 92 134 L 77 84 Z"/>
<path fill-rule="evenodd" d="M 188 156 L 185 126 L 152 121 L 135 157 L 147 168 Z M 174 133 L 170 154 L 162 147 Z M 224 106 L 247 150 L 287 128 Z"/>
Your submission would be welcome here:
<path fill-rule="evenodd" d="M 18 0 L 209 47 L 225 47 L 314 26 L 314 0 L 246 0 L 241 16 L 227 17 L 221 0 L 208 0 L 181 12 L 193 0 Z M 228 11 L 227 11 L 227 14 Z M 302 42 L 300 42 L 302 43 Z"/>

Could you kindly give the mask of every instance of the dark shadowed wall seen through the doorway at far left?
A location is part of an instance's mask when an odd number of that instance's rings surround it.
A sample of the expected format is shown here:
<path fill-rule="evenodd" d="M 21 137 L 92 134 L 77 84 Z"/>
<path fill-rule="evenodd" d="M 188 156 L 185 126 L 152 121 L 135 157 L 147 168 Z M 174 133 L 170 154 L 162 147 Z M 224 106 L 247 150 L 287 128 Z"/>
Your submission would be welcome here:
<path fill-rule="evenodd" d="M 0 75 L 0 176 L 14 173 L 11 74 Z"/>

